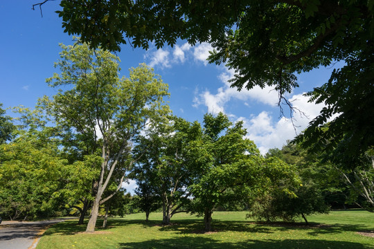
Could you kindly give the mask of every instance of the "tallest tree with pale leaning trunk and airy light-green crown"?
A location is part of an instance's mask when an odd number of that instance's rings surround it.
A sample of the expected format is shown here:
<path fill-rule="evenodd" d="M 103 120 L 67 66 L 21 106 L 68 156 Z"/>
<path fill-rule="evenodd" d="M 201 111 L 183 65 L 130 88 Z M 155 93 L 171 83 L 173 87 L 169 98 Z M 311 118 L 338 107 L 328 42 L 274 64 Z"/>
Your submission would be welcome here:
<path fill-rule="evenodd" d="M 134 163 L 132 140 L 148 118 L 165 110 L 163 96 L 168 87 L 152 68 L 140 64 L 130 69 L 130 77 L 118 77 L 118 57 L 87 44 L 62 46 L 61 59 L 55 63 L 61 73 L 47 82 L 59 89 L 52 100 L 44 97 L 44 106 L 55 118 L 61 134 L 72 140 L 66 146 L 79 148 L 93 170 L 100 174 L 92 186 L 94 201 L 87 232 L 94 232 L 100 205 L 121 189 L 125 174 Z M 79 146 L 77 146 L 77 144 Z M 116 177 L 118 176 L 118 177 Z M 109 185 L 114 192 L 104 196 Z"/>

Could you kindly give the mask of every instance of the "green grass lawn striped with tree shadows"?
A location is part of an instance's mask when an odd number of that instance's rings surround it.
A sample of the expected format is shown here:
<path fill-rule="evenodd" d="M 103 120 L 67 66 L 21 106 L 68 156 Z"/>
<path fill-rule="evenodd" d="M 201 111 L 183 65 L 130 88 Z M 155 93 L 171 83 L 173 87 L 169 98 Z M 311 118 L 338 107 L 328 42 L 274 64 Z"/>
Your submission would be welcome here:
<path fill-rule="evenodd" d="M 374 214 L 362 211 L 335 211 L 310 216 L 303 223 L 255 223 L 246 212 L 215 212 L 214 232 L 202 233 L 202 218 L 188 214 L 172 217 L 162 226 L 160 213 L 131 214 L 109 219 L 108 228 L 83 233 L 86 225 L 65 221 L 49 228 L 37 249 L 51 248 L 374 248 L 374 237 L 357 232 L 374 230 Z M 102 221 L 98 221 L 101 225 Z"/>

